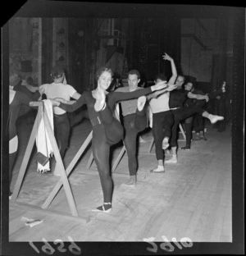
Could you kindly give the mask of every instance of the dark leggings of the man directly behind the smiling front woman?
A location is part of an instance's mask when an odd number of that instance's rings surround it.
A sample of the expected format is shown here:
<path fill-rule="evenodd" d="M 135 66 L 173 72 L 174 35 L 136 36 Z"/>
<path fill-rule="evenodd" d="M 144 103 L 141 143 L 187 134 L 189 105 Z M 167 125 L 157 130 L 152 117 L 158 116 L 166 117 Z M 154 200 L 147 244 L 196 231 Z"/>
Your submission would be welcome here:
<path fill-rule="evenodd" d="M 143 131 L 147 126 L 147 117 L 145 108 L 139 112 L 126 115 L 124 117 L 125 138 L 124 144 L 126 153 L 128 156 L 128 168 L 130 176 L 134 176 L 137 173 L 137 136 L 140 131 Z"/>

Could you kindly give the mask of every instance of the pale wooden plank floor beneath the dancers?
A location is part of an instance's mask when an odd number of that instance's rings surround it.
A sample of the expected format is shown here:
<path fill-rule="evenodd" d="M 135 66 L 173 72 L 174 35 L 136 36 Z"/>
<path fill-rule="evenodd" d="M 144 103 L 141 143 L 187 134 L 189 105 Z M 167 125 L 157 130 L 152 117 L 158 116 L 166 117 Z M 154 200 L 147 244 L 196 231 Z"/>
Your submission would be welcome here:
<path fill-rule="evenodd" d="M 30 118 L 19 123 L 20 153 L 14 168 L 11 188 L 14 187 L 25 147 L 30 136 Z M 231 136 L 230 127 L 224 132 L 207 124 L 207 141 L 194 141 L 190 151 L 179 150 L 177 164 L 166 164 L 166 172 L 150 173 L 157 161 L 154 147 L 148 153 L 153 138 L 151 131 L 142 135 L 139 143 L 138 184 L 134 188 L 122 185 L 128 179 L 127 156 L 122 158 L 112 174 L 114 181 L 112 213 L 92 213 L 91 208 L 103 203 L 98 171 L 93 162 L 86 168 L 91 147 L 80 158 L 69 178 L 80 217 L 71 217 L 62 189 L 48 207 L 61 215 L 52 215 L 32 207 L 10 202 L 9 240 L 42 241 L 162 241 L 189 237 L 194 242 L 232 241 L 231 196 Z M 83 121 L 71 132 L 70 148 L 65 165 L 71 162 L 91 127 Z M 182 136 L 180 135 L 182 139 Z M 180 146 L 185 144 L 179 141 Z M 112 162 L 121 147 L 112 152 Z M 166 159 L 170 155 L 166 153 Z M 41 206 L 59 178 L 52 174 L 39 175 L 35 157 L 30 159 L 19 203 Z M 25 226 L 21 217 L 43 220 L 38 226 Z M 83 217 L 83 218 L 82 218 Z M 85 221 L 84 221 L 85 220 Z"/>

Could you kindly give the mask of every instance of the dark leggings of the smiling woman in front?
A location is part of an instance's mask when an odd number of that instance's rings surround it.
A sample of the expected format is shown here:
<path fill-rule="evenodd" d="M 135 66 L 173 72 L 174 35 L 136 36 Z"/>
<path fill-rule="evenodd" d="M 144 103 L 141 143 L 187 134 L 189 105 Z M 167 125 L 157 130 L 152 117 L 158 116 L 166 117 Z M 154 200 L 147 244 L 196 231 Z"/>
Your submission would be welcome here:
<path fill-rule="evenodd" d="M 123 139 L 124 130 L 120 121 L 112 116 L 112 111 L 106 107 L 99 112 L 102 124 L 93 126 L 93 158 L 98 167 L 103 199 L 105 203 L 112 202 L 113 183 L 109 169 L 110 146 Z"/>

